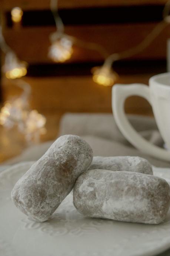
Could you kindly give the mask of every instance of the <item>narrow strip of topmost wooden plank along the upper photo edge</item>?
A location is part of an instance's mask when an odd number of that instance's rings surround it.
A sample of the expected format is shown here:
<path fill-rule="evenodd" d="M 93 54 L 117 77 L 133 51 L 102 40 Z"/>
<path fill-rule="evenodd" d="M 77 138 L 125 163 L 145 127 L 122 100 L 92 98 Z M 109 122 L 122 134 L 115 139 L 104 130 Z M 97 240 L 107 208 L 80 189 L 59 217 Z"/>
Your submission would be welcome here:
<path fill-rule="evenodd" d="M 49 9 L 50 0 L 1 0 L 3 10 L 9 11 L 15 6 L 23 10 L 44 10 Z M 140 5 L 163 5 L 166 0 L 64 0 L 59 1 L 60 9 L 69 8 L 90 8 L 90 7 L 110 7 L 110 6 L 140 6 Z"/>

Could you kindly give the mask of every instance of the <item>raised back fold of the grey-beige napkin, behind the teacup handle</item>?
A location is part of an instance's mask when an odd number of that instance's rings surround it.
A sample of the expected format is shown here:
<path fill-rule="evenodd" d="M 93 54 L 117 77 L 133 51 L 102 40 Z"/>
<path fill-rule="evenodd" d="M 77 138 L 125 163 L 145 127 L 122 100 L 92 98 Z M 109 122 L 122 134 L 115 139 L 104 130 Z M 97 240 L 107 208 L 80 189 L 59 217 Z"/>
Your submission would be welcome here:
<path fill-rule="evenodd" d="M 163 140 L 153 117 L 128 115 L 135 130 L 151 143 L 163 146 Z M 59 136 L 64 134 L 90 135 L 132 145 L 121 134 L 112 114 L 109 113 L 66 113 L 60 121 Z"/>

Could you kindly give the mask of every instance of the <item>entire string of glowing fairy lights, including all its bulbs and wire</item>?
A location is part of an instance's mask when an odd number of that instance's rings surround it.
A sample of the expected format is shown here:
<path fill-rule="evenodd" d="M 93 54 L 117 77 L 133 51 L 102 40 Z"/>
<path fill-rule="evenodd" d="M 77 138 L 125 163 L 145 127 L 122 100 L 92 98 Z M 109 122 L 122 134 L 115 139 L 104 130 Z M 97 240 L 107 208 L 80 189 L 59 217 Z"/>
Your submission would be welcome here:
<path fill-rule="evenodd" d="M 74 45 L 97 51 L 105 60 L 102 66 L 91 69 L 91 73 L 93 81 L 103 86 L 112 86 L 119 78 L 119 75 L 113 70 L 114 61 L 126 59 L 143 51 L 170 23 L 170 0 L 168 0 L 164 6 L 162 21 L 154 27 L 140 44 L 120 53 L 109 54 L 100 44 L 82 41 L 65 33 L 63 21 L 59 16 L 57 0 L 50 1 L 50 9 L 55 20 L 56 31 L 50 34 L 51 46 L 49 47 L 48 57 L 56 63 L 67 61 L 74 54 Z M 14 24 L 20 23 L 22 16 L 23 11 L 20 7 L 14 7 L 11 10 L 11 20 Z M 8 129 L 17 126 L 18 130 L 25 135 L 27 141 L 34 140 L 38 142 L 40 134 L 46 132 L 44 128 L 46 118 L 37 110 L 30 109 L 31 87 L 20 79 L 27 74 L 28 63 L 19 60 L 16 53 L 7 45 L 1 26 L 0 48 L 4 53 L 2 72 L 10 82 L 13 81 L 14 86 L 19 86 L 23 90 L 19 97 L 13 97 L 4 104 L 0 112 L 0 124 Z"/>

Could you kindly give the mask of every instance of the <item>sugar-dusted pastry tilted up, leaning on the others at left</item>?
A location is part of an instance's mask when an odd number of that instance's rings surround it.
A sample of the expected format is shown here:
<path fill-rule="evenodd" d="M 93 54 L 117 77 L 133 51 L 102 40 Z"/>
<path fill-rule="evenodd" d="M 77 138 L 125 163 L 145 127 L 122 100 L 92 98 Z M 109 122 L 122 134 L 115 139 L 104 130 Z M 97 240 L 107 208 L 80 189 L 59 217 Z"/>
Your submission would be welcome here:
<path fill-rule="evenodd" d="M 92 158 L 91 147 L 79 136 L 59 137 L 18 180 L 11 192 L 14 204 L 33 220 L 49 219 Z"/>

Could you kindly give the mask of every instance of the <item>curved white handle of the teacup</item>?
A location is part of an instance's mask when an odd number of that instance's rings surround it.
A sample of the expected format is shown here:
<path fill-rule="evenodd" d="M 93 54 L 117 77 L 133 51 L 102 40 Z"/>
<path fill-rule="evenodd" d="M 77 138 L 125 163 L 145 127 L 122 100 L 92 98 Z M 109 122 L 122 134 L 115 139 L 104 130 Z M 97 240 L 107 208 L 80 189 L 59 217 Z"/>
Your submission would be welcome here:
<path fill-rule="evenodd" d="M 144 139 L 130 124 L 124 112 L 124 102 L 129 96 L 141 96 L 151 104 L 150 90 L 145 84 L 116 84 L 112 87 L 112 110 L 114 119 L 126 139 L 145 154 L 170 161 L 170 152 L 161 149 Z"/>

